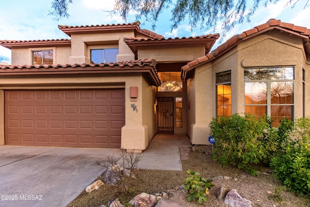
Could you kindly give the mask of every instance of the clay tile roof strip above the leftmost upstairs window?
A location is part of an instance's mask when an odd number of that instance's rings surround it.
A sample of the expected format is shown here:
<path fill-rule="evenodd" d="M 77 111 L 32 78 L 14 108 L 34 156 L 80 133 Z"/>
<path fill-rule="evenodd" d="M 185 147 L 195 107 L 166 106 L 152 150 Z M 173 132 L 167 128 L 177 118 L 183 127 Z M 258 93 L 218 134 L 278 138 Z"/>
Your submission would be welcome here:
<path fill-rule="evenodd" d="M 48 46 L 48 45 L 70 45 L 70 39 L 47 39 L 47 40 L 0 40 L 0 45 L 11 49 L 14 46 Z"/>

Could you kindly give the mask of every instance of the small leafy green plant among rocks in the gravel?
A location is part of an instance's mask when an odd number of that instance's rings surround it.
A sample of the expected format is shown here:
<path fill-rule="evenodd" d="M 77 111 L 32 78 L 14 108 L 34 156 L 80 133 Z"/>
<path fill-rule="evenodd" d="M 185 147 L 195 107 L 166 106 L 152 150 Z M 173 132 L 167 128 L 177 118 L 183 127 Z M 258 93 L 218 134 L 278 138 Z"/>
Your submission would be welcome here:
<path fill-rule="evenodd" d="M 200 175 L 200 173 L 187 170 L 187 174 L 190 175 L 186 177 L 184 189 L 187 190 L 187 201 L 196 201 L 202 204 L 203 201 L 207 202 L 208 198 L 206 197 L 209 194 L 209 189 L 214 185 L 212 180 L 207 180 Z"/>

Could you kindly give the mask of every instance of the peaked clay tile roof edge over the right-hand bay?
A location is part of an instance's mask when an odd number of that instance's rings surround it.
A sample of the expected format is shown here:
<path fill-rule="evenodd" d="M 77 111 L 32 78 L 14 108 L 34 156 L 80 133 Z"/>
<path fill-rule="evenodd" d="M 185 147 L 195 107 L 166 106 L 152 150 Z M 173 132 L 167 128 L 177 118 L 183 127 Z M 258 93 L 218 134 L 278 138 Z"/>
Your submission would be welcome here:
<path fill-rule="evenodd" d="M 309 43 L 310 29 L 307 29 L 306 27 L 296 26 L 290 23 L 281 22 L 280 20 L 277 20 L 277 19 L 269 19 L 264 24 L 258 25 L 254 27 L 253 29 L 242 32 L 241 34 L 234 35 L 233 37 L 228 39 L 225 43 L 223 43 L 222 45 L 218 46 L 216 49 L 211 51 L 211 53 L 184 65 L 181 68 L 181 78 L 185 80 L 186 77 L 188 76 L 188 72 L 190 72 L 192 69 L 194 69 L 195 67 L 201 64 L 207 63 L 208 61 L 219 57 L 221 54 L 235 47 L 240 42 L 248 38 L 251 38 L 253 36 L 256 36 L 258 34 L 261 34 L 263 32 L 273 30 L 273 29 L 278 29 L 278 30 L 302 37 L 304 39 L 306 51 L 309 51 L 310 53 L 310 43 Z"/>

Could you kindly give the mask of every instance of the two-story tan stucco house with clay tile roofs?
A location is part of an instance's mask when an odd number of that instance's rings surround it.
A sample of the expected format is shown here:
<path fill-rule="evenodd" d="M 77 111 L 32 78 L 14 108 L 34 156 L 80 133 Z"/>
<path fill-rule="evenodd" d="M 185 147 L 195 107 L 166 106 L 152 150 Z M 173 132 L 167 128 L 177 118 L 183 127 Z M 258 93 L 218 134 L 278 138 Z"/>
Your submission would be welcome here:
<path fill-rule="evenodd" d="M 66 26 L 14 41 L 0 66 L 0 144 L 122 147 L 155 134 L 208 144 L 217 115 L 310 115 L 310 29 L 270 19 L 211 51 L 219 34 L 164 38 L 130 24 Z"/>

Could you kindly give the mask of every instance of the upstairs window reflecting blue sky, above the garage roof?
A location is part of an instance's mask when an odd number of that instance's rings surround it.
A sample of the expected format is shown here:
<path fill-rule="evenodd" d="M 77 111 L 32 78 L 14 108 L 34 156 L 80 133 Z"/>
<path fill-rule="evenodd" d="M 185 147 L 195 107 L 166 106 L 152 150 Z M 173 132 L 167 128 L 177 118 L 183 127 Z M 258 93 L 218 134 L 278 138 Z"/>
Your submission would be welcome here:
<path fill-rule="evenodd" d="M 118 48 L 91 49 L 91 63 L 116 63 Z"/>

